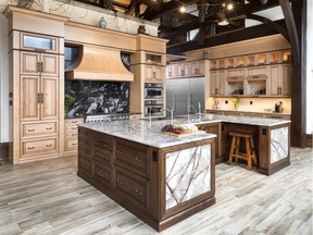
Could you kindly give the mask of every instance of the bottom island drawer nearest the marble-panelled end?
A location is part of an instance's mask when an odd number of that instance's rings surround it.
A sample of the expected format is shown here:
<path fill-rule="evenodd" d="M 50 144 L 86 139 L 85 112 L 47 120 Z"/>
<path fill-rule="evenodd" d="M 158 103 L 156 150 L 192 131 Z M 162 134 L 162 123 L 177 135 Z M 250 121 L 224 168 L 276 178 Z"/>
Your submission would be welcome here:
<path fill-rule="evenodd" d="M 150 210 L 150 182 L 135 173 L 129 173 L 123 169 L 116 168 L 116 190 L 126 199 Z"/>

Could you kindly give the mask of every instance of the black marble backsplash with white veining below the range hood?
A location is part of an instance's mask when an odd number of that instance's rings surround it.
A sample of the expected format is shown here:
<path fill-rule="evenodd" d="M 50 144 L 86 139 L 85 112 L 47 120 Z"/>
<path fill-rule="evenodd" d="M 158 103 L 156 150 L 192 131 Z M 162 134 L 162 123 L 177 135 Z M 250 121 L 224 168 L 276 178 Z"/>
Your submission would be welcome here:
<path fill-rule="evenodd" d="M 65 116 L 129 112 L 129 83 L 65 81 Z"/>

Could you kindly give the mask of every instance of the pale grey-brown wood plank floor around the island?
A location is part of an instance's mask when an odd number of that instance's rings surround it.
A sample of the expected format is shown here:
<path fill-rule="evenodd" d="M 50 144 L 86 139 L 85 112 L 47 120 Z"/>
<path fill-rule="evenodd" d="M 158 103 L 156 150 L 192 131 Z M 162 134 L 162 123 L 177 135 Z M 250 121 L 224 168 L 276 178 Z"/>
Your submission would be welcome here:
<path fill-rule="evenodd" d="M 312 149 L 291 149 L 291 165 L 265 176 L 216 166 L 216 203 L 160 234 L 311 235 Z M 0 164 L 0 234 L 158 234 L 77 177 L 76 158 Z"/>

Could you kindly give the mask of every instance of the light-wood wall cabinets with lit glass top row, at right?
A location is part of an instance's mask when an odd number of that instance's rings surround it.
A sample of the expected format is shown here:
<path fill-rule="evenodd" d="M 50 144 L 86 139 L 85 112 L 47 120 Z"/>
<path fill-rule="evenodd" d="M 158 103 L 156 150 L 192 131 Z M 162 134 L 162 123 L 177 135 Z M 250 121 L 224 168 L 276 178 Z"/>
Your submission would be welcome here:
<path fill-rule="evenodd" d="M 211 96 L 291 96 L 291 52 L 270 51 L 210 61 Z"/>

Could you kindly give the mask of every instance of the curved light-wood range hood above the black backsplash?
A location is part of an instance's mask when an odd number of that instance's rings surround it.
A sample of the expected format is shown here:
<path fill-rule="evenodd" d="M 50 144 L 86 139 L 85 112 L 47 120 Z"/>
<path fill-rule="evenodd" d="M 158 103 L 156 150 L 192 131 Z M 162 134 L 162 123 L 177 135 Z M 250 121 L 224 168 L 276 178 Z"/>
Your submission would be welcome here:
<path fill-rule="evenodd" d="M 122 63 L 121 50 L 83 45 L 78 51 L 78 60 L 65 71 L 65 78 L 134 81 L 134 74 Z"/>

